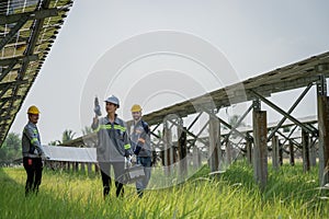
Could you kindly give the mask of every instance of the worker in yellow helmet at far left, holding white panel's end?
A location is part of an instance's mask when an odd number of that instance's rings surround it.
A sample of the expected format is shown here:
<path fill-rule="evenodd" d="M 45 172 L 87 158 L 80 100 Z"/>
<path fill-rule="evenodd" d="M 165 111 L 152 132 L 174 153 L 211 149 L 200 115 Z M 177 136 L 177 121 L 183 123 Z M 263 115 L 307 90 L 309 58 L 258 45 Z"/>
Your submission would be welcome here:
<path fill-rule="evenodd" d="M 42 182 L 43 159 L 46 159 L 44 149 L 41 145 L 41 137 L 36 124 L 38 122 L 39 111 L 32 105 L 27 110 L 29 122 L 23 129 L 22 153 L 23 165 L 27 174 L 25 184 L 25 196 L 30 193 L 38 192 Z"/>

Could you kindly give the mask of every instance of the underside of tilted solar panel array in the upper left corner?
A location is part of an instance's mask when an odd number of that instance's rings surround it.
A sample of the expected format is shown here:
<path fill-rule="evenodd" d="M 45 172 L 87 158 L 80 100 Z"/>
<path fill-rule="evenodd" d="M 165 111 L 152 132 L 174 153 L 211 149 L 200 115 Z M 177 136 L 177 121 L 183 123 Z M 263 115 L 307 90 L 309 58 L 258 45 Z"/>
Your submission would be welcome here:
<path fill-rule="evenodd" d="M 71 0 L 0 0 L 0 147 L 71 5 Z"/>

